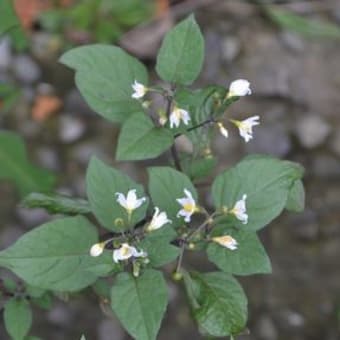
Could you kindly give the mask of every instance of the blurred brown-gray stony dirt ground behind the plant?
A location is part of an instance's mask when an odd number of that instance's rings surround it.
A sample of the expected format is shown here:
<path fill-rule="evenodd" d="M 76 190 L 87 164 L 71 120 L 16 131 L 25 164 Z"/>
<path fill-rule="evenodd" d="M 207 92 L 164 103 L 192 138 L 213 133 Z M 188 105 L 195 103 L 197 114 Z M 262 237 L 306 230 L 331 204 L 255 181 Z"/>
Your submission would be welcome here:
<path fill-rule="evenodd" d="M 301 13 L 340 24 L 338 1 L 295 3 Z M 250 334 L 238 339 L 340 339 L 339 40 L 305 38 L 280 30 L 258 6 L 242 1 L 198 8 L 196 16 L 207 49 L 197 85 L 227 86 L 233 79 L 249 79 L 254 95 L 235 104 L 229 114 L 261 116 L 254 140 L 247 145 L 236 131 L 231 131 L 228 140 L 216 136 L 216 173 L 248 153 L 272 154 L 306 168 L 305 211 L 284 213 L 261 232 L 273 274 L 241 278 L 249 297 Z M 143 31 L 144 36 L 151 31 Z M 61 192 L 85 197 L 84 175 L 93 154 L 145 181 L 145 167 L 152 163 L 114 162 L 116 127 L 86 106 L 72 73 L 57 64 L 58 53 L 44 51 L 42 55 L 39 43 L 43 38 L 39 32 L 35 35 L 30 53 L 12 55 L 10 63 L 0 68 L 0 79 L 15 78 L 24 93 L 15 112 L 2 118 L 2 127 L 24 136 L 31 158 L 60 174 Z M 152 50 L 146 56 L 144 41 L 139 45 L 135 53 L 153 67 Z M 38 122 L 31 117 L 32 101 L 46 89 L 62 98 L 63 105 L 57 114 Z M 188 146 L 182 142 L 179 147 Z M 0 249 L 49 219 L 42 210 L 20 207 L 8 184 L 0 186 L 0 202 Z M 190 259 L 188 265 L 193 263 L 213 268 L 200 258 Z M 202 339 L 190 321 L 181 287 L 169 282 L 169 289 L 171 303 L 158 339 Z M 57 300 L 48 312 L 36 308 L 32 334 L 48 340 L 79 339 L 82 333 L 89 340 L 129 339 L 119 322 L 102 312 L 93 293 L 71 300 L 69 304 Z M 0 338 L 7 339 L 1 323 Z"/>

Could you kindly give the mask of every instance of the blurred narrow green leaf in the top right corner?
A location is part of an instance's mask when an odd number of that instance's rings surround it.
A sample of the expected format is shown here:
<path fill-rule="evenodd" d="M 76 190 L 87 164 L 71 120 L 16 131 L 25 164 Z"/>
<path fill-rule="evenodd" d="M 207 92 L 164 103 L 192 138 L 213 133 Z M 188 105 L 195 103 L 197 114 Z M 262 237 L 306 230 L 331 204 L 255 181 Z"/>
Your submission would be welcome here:
<path fill-rule="evenodd" d="M 278 26 L 310 38 L 340 38 L 339 26 L 331 22 L 305 18 L 284 9 L 265 6 L 266 13 Z"/>

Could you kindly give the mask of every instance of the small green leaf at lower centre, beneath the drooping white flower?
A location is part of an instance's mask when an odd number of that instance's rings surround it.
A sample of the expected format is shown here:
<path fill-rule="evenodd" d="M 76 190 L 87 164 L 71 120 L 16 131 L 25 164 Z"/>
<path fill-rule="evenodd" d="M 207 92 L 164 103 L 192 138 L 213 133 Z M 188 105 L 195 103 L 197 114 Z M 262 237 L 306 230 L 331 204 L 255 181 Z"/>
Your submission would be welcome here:
<path fill-rule="evenodd" d="M 174 261 L 179 255 L 179 249 L 170 244 L 177 233 L 169 225 L 161 229 L 151 231 L 139 244 L 139 247 L 147 252 L 150 264 L 153 267 L 161 267 Z"/>

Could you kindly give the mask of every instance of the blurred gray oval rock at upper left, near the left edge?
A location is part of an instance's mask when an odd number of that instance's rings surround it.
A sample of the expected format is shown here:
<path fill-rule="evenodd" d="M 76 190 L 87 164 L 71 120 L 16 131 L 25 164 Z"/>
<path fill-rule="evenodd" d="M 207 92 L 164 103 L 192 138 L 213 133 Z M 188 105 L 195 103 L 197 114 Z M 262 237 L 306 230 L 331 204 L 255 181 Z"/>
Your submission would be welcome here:
<path fill-rule="evenodd" d="M 13 72 L 19 81 L 33 84 L 41 77 L 39 65 L 28 55 L 18 55 L 13 59 Z"/>

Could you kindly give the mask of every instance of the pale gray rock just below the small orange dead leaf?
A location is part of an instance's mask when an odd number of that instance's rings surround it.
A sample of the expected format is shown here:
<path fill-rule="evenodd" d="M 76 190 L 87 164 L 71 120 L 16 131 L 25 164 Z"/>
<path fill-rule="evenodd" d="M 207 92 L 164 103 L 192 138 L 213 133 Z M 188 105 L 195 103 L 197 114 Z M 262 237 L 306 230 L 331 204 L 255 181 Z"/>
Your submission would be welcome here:
<path fill-rule="evenodd" d="M 64 114 L 59 121 L 59 137 L 64 143 L 72 143 L 81 138 L 85 133 L 84 122 L 78 118 Z"/>

